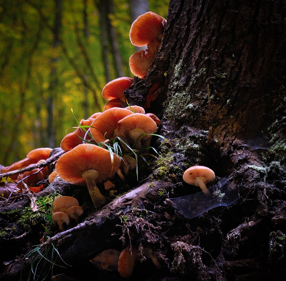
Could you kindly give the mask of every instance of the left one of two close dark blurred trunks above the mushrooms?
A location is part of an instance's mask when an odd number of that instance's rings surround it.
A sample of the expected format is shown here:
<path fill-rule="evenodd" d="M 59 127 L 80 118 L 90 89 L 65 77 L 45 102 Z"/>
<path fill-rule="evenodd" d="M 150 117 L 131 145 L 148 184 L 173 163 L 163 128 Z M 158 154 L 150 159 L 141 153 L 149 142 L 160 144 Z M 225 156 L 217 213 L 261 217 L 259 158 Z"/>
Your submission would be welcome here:
<path fill-rule="evenodd" d="M 95 1 L 100 15 L 100 30 L 101 30 L 101 43 L 102 43 L 102 56 L 105 70 L 106 81 L 111 81 L 110 65 L 108 60 L 108 18 L 107 18 L 107 1 L 100 0 L 99 3 Z"/>

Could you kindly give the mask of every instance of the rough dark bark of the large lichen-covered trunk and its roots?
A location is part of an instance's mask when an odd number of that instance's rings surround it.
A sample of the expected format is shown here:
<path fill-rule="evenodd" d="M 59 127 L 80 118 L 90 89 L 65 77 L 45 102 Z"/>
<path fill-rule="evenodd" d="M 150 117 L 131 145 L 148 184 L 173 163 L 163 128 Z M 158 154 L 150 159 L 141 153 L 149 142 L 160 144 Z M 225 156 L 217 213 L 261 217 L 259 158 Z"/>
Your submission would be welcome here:
<path fill-rule="evenodd" d="M 122 280 L 89 260 L 131 242 L 139 252 L 153 249 L 162 268 L 141 255 L 130 280 L 284 280 L 285 9 L 284 1 L 170 2 L 161 49 L 146 79 L 134 79 L 126 96 L 143 105 L 153 83 L 166 85 L 150 111 L 162 118 L 160 134 L 173 147 L 157 140 L 153 146 L 165 160 L 153 162 L 136 189 L 41 246 L 53 243 L 72 266 L 54 267 L 54 274 Z M 187 219 L 166 199 L 199 192 L 182 179 L 197 163 L 240 196 L 230 207 Z M 76 190 L 67 186 L 63 193 L 83 200 Z M 19 276 L 23 252 L 6 263 L 3 280 Z"/>

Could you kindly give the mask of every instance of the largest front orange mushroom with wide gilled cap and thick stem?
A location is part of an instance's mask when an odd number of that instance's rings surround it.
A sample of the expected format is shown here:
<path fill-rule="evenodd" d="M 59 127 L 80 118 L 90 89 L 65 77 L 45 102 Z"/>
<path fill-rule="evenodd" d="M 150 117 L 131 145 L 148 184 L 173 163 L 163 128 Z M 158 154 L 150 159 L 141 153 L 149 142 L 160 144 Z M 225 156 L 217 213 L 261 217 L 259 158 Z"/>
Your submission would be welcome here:
<path fill-rule="evenodd" d="M 106 197 L 96 184 L 113 177 L 120 166 L 120 158 L 114 153 L 112 157 L 113 160 L 109 151 L 100 146 L 80 144 L 57 160 L 56 171 L 69 183 L 87 185 L 94 207 L 98 208 L 106 202 Z"/>

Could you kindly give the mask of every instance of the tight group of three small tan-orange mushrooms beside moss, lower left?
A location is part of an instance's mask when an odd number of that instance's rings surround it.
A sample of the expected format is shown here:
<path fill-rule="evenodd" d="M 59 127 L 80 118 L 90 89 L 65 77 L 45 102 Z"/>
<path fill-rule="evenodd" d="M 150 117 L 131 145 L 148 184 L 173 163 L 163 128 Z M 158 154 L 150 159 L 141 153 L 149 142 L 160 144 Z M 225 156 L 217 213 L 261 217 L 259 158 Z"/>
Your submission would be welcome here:
<path fill-rule="evenodd" d="M 52 221 L 57 223 L 60 231 L 65 231 L 63 223 L 67 227 L 70 225 L 70 219 L 79 222 L 79 216 L 83 214 L 83 208 L 79 206 L 77 199 L 71 196 L 56 197 L 52 204 Z"/>

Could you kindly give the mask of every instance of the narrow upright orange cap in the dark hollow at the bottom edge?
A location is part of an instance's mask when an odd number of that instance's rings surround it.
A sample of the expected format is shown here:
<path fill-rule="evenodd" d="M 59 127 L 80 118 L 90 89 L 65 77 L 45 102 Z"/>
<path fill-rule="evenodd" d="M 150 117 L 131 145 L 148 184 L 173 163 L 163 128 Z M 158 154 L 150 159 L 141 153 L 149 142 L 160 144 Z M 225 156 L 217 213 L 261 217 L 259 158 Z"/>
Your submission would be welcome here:
<path fill-rule="evenodd" d="M 128 246 L 122 250 L 118 261 L 118 271 L 120 275 L 122 277 L 130 277 L 138 259 L 138 251 L 134 246 Z"/>

